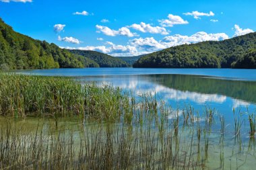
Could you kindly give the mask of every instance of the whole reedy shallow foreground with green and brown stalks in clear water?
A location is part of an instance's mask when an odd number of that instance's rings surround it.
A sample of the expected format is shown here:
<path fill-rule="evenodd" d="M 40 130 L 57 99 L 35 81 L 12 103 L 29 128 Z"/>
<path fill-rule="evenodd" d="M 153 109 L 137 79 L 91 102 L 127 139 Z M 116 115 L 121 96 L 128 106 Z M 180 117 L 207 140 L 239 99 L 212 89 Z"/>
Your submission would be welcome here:
<path fill-rule="evenodd" d="M 254 114 L 234 112 L 227 124 L 211 108 L 174 110 L 152 95 L 133 97 L 110 86 L 0 74 L 0 114 L 0 169 L 249 169 L 255 163 Z"/>

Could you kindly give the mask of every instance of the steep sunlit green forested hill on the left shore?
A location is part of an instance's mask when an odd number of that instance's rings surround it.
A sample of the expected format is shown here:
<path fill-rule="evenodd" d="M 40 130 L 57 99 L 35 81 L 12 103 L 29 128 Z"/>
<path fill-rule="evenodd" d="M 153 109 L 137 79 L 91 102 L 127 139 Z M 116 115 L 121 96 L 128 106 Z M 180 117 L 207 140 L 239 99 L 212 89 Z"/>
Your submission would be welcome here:
<path fill-rule="evenodd" d="M 0 18 L 0 69 L 53 69 L 99 67 L 89 58 L 76 56 L 46 41 L 13 31 Z"/>

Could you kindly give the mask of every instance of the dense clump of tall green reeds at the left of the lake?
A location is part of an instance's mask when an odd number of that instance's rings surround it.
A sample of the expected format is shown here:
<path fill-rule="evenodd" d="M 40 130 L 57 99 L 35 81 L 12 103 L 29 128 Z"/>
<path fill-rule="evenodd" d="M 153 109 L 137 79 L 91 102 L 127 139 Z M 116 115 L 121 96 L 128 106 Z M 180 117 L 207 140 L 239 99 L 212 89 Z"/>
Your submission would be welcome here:
<path fill-rule="evenodd" d="M 63 77 L 0 73 L 0 115 L 94 116 L 115 120 L 128 112 L 129 98 L 121 89 L 82 85 Z"/>

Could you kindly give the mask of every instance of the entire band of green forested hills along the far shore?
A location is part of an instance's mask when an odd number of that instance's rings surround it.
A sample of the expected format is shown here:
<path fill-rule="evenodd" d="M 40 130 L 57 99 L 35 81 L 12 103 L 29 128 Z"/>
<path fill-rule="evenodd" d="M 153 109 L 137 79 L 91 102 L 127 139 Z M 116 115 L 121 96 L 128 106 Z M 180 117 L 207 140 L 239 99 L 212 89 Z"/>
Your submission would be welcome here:
<path fill-rule="evenodd" d="M 152 54 L 114 57 L 90 50 L 66 50 L 15 32 L 0 18 L 0 69 L 87 67 L 256 69 L 256 33 L 220 42 L 174 46 Z"/>

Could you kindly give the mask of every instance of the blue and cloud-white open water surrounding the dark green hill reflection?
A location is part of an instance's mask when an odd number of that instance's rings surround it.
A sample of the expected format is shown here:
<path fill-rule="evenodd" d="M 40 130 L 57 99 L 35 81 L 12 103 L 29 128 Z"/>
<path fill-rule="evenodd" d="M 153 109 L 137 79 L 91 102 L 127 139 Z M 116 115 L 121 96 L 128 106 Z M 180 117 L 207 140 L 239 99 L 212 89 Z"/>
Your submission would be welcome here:
<path fill-rule="evenodd" d="M 98 69 L 50 69 L 20 71 L 20 73 L 47 75 L 47 76 L 69 76 L 83 79 L 85 81 L 96 81 L 99 85 L 111 84 L 125 90 L 139 93 L 156 93 L 158 99 L 167 101 L 172 108 L 184 108 L 192 105 L 195 110 L 203 111 L 205 106 L 216 108 L 220 114 L 232 116 L 232 109 L 241 109 L 246 112 L 247 108 L 252 111 L 255 104 L 245 101 L 246 97 L 234 99 L 224 94 L 199 93 L 197 91 L 181 90 L 179 87 L 171 87 L 158 83 L 158 75 L 202 75 L 210 76 L 210 79 L 243 79 L 247 81 L 256 80 L 256 70 L 248 69 L 132 69 L 132 68 L 98 68 Z M 155 75 L 156 79 L 146 78 L 143 75 Z M 163 78 L 163 77 L 162 77 Z M 181 77 L 182 78 L 182 77 Z M 163 81 L 163 80 L 162 80 Z M 200 82 L 200 83 L 203 83 Z M 184 89 L 184 87 L 183 87 Z M 228 88 L 227 88 L 228 89 Z M 246 91 L 246 87 L 245 87 Z M 241 93 L 240 95 L 244 95 Z"/>

